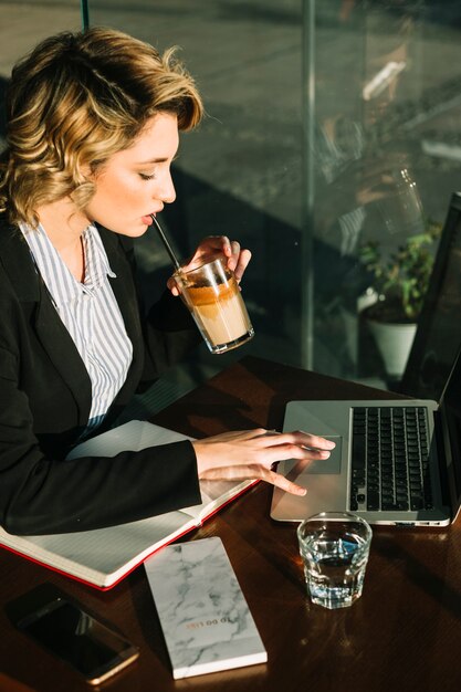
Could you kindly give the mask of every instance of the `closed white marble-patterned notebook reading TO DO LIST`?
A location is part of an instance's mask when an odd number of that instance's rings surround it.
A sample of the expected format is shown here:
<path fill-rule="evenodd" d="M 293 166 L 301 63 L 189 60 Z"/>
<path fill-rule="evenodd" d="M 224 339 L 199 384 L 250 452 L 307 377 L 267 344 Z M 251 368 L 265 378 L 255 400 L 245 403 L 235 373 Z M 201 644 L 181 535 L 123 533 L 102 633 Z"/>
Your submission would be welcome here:
<path fill-rule="evenodd" d="M 220 538 L 169 545 L 145 569 L 176 680 L 268 661 Z"/>

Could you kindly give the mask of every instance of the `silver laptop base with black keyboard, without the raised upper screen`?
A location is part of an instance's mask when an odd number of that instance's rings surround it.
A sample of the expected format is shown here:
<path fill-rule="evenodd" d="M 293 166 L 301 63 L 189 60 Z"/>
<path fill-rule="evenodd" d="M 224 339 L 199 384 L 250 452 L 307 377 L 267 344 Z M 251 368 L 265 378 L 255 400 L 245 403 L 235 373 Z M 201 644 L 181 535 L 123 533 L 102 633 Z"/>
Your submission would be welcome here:
<path fill-rule="evenodd" d="M 277 471 L 307 489 L 274 487 L 271 517 L 300 522 L 326 511 L 371 524 L 446 526 L 461 502 L 461 355 L 440 403 L 428 399 L 290 401 L 284 430 L 336 442 L 329 459 L 286 460 Z"/>

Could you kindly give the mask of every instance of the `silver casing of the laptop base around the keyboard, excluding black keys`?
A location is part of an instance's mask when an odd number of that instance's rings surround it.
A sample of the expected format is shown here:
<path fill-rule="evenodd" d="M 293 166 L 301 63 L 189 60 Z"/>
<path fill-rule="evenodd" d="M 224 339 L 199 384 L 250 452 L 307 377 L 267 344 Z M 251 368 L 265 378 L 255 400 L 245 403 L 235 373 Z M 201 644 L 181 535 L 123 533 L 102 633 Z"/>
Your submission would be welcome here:
<path fill-rule="evenodd" d="M 367 487 L 353 496 L 352 428 L 355 408 L 425 407 L 429 433 L 429 464 L 432 482 L 431 510 L 367 510 Z M 283 430 L 304 430 L 336 442 L 329 459 L 279 463 L 279 472 L 307 489 L 304 496 L 275 487 L 271 517 L 300 522 L 325 511 L 353 511 L 373 524 L 443 526 L 454 521 L 461 495 L 461 358 L 450 373 L 440 405 L 427 399 L 356 401 L 291 401 Z M 389 441 L 390 442 L 390 441 Z M 355 491 L 354 491 L 355 493 Z"/>

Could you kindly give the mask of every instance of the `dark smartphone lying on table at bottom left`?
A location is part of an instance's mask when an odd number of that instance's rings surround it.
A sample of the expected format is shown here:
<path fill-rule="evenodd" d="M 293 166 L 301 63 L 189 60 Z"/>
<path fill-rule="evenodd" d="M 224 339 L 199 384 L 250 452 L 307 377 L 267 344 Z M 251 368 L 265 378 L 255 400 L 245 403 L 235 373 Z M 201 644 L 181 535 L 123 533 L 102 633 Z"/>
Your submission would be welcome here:
<path fill-rule="evenodd" d="M 29 591 L 7 610 L 15 627 L 77 670 L 90 684 L 104 682 L 139 656 L 137 647 L 51 585 Z"/>

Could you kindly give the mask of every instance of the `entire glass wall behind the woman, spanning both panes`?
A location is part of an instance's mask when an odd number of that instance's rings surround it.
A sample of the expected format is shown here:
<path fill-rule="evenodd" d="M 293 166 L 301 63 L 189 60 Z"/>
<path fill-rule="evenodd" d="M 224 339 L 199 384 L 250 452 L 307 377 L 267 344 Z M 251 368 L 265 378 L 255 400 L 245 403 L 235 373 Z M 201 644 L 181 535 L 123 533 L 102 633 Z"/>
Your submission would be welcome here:
<path fill-rule="evenodd" d="M 252 250 L 243 295 L 256 336 L 220 358 L 203 348 L 202 361 L 220 368 L 254 354 L 395 386 L 400 375 L 363 314 L 387 293 L 364 264 L 374 245 L 368 255 L 363 245 L 378 243 L 387 261 L 408 239 L 416 252 L 415 237 L 429 229 L 430 256 L 437 251 L 461 161 L 458 0 L 90 0 L 88 8 L 93 25 L 160 50 L 179 45 L 205 97 L 207 117 L 182 136 L 177 201 L 161 221 L 184 258 L 206 234 Z M 81 25 L 71 0 L 0 0 L 0 10 L 3 85 L 36 41 Z M 138 254 L 153 300 L 169 259 L 154 231 Z M 422 290 L 421 274 L 417 283 Z"/>

